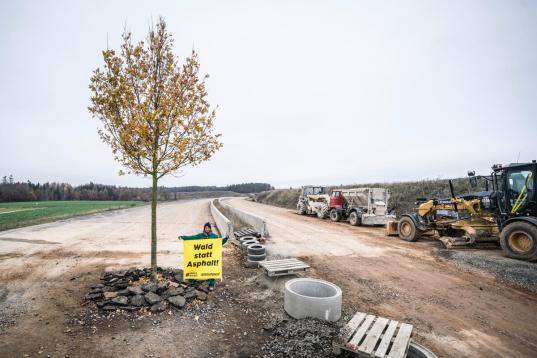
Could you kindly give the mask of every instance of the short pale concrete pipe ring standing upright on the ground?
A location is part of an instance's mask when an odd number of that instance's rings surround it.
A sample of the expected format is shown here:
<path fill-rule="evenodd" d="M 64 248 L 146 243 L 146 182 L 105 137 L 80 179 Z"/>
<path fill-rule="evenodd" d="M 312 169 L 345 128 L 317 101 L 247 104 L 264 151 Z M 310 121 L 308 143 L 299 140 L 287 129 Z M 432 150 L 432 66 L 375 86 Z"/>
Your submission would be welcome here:
<path fill-rule="evenodd" d="M 335 322 L 341 317 L 341 288 L 313 278 L 285 283 L 284 309 L 293 318 L 314 317 Z"/>

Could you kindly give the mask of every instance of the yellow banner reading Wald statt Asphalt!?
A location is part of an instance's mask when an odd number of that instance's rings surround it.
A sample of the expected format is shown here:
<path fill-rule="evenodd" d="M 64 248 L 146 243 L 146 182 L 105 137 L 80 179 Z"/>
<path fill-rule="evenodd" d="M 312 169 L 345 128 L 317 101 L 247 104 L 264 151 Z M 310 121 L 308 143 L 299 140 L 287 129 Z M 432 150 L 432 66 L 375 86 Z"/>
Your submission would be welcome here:
<path fill-rule="evenodd" d="M 184 280 L 222 278 L 222 239 L 184 240 Z"/>

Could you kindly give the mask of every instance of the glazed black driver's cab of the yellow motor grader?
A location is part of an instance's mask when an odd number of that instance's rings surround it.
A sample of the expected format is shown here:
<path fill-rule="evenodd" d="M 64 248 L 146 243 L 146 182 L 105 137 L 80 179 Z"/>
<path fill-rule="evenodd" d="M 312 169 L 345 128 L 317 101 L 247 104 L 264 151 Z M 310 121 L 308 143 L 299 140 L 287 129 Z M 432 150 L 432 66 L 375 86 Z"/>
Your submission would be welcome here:
<path fill-rule="evenodd" d="M 492 169 L 500 216 L 537 216 L 537 163 L 495 165 Z"/>

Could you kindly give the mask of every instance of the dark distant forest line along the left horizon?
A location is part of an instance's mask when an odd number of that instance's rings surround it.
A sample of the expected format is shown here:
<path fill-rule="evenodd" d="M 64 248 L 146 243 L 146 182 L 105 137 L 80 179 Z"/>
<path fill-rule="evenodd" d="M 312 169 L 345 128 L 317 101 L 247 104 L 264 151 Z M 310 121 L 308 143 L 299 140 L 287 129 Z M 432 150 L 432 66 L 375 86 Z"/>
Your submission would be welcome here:
<path fill-rule="evenodd" d="M 160 187 L 159 200 L 177 200 L 180 193 L 234 192 L 259 193 L 274 188 L 267 183 L 244 183 L 227 186 Z M 104 184 L 72 186 L 67 183 L 16 182 L 13 176 L 4 176 L 0 183 L 0 202 L 45 200 L 151 200 L 151 188 L 129 188 Z"/>

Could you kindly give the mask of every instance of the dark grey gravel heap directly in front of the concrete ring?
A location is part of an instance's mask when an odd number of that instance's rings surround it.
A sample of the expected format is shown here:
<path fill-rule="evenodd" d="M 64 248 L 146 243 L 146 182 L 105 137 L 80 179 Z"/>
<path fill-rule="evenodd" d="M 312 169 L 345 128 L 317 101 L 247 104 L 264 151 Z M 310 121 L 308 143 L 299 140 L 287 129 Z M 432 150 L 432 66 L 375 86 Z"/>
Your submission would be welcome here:
<path fill-rule="evenodd" d="M 283 320 L 272 328 L 272 337 L 261 348 L 263 358 L 315 358 L 332 356 L 335 324 L 316 318 Z"/>

